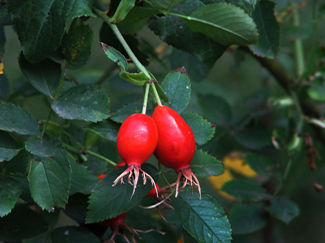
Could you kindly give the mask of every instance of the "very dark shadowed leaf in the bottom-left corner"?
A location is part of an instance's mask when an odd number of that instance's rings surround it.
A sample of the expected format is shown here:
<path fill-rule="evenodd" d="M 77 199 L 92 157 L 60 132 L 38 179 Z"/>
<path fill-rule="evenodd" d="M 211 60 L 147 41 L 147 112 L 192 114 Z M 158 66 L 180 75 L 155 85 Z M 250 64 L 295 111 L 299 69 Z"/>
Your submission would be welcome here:
<path fill-rule="evenodd" d="M 0 240 L 5 242 L 21 242 L 41 234 L 48 226 L 43 217 L 34 210 L 17 205 L 10 214 L 0 218 Z"/>

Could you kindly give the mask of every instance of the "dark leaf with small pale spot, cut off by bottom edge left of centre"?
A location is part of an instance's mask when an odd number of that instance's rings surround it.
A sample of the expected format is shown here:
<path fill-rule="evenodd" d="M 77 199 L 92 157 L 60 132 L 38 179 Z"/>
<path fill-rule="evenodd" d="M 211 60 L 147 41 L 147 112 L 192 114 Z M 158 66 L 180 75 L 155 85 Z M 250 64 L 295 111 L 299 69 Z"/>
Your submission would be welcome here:
<path fill-rule="evenodd" d="M 101 243 L 99 238 L 84 227 L 63 226 L 51 233 L 53 243 Z"/>

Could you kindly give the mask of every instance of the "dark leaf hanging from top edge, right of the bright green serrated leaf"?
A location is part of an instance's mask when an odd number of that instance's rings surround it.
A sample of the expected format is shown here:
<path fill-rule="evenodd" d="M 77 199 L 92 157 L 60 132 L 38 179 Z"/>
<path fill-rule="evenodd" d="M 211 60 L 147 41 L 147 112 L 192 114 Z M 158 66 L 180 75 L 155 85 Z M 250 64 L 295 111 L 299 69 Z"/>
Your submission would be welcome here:
<path fill-rule="evenodd" d="M 275 3 L 258 1 L 252 13 L 259 33 L 257 45 L 249 48 L 257 56 L 276 58 L 279 52 L 280 26 L 274 16 Z"/>

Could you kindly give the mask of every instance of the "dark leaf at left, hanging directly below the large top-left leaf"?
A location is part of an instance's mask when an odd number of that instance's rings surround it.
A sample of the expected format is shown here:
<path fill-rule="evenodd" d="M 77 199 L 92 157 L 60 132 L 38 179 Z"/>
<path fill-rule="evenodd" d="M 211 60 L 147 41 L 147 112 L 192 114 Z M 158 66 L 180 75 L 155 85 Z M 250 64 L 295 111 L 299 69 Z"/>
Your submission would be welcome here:
<path fill-rule="evenodd" d="M 59 87 L 61 65 L 46 58 L 37 64 L 31 64 L 23 53 L 19 55 L 19 67 L 26 79 L 42 94 L 53 98 Z"/>

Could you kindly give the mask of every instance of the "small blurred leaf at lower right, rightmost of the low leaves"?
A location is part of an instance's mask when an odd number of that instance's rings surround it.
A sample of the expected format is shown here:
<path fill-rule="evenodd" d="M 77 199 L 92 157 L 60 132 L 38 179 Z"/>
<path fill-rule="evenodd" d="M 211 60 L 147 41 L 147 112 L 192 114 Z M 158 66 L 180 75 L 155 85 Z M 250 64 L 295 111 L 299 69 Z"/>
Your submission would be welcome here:
<path fill-rule="evenodd" d="M 298 205 L 286 197 L 271 197 L 270 201 L 267 211 L 286 224 L 299 215 Z"/>

